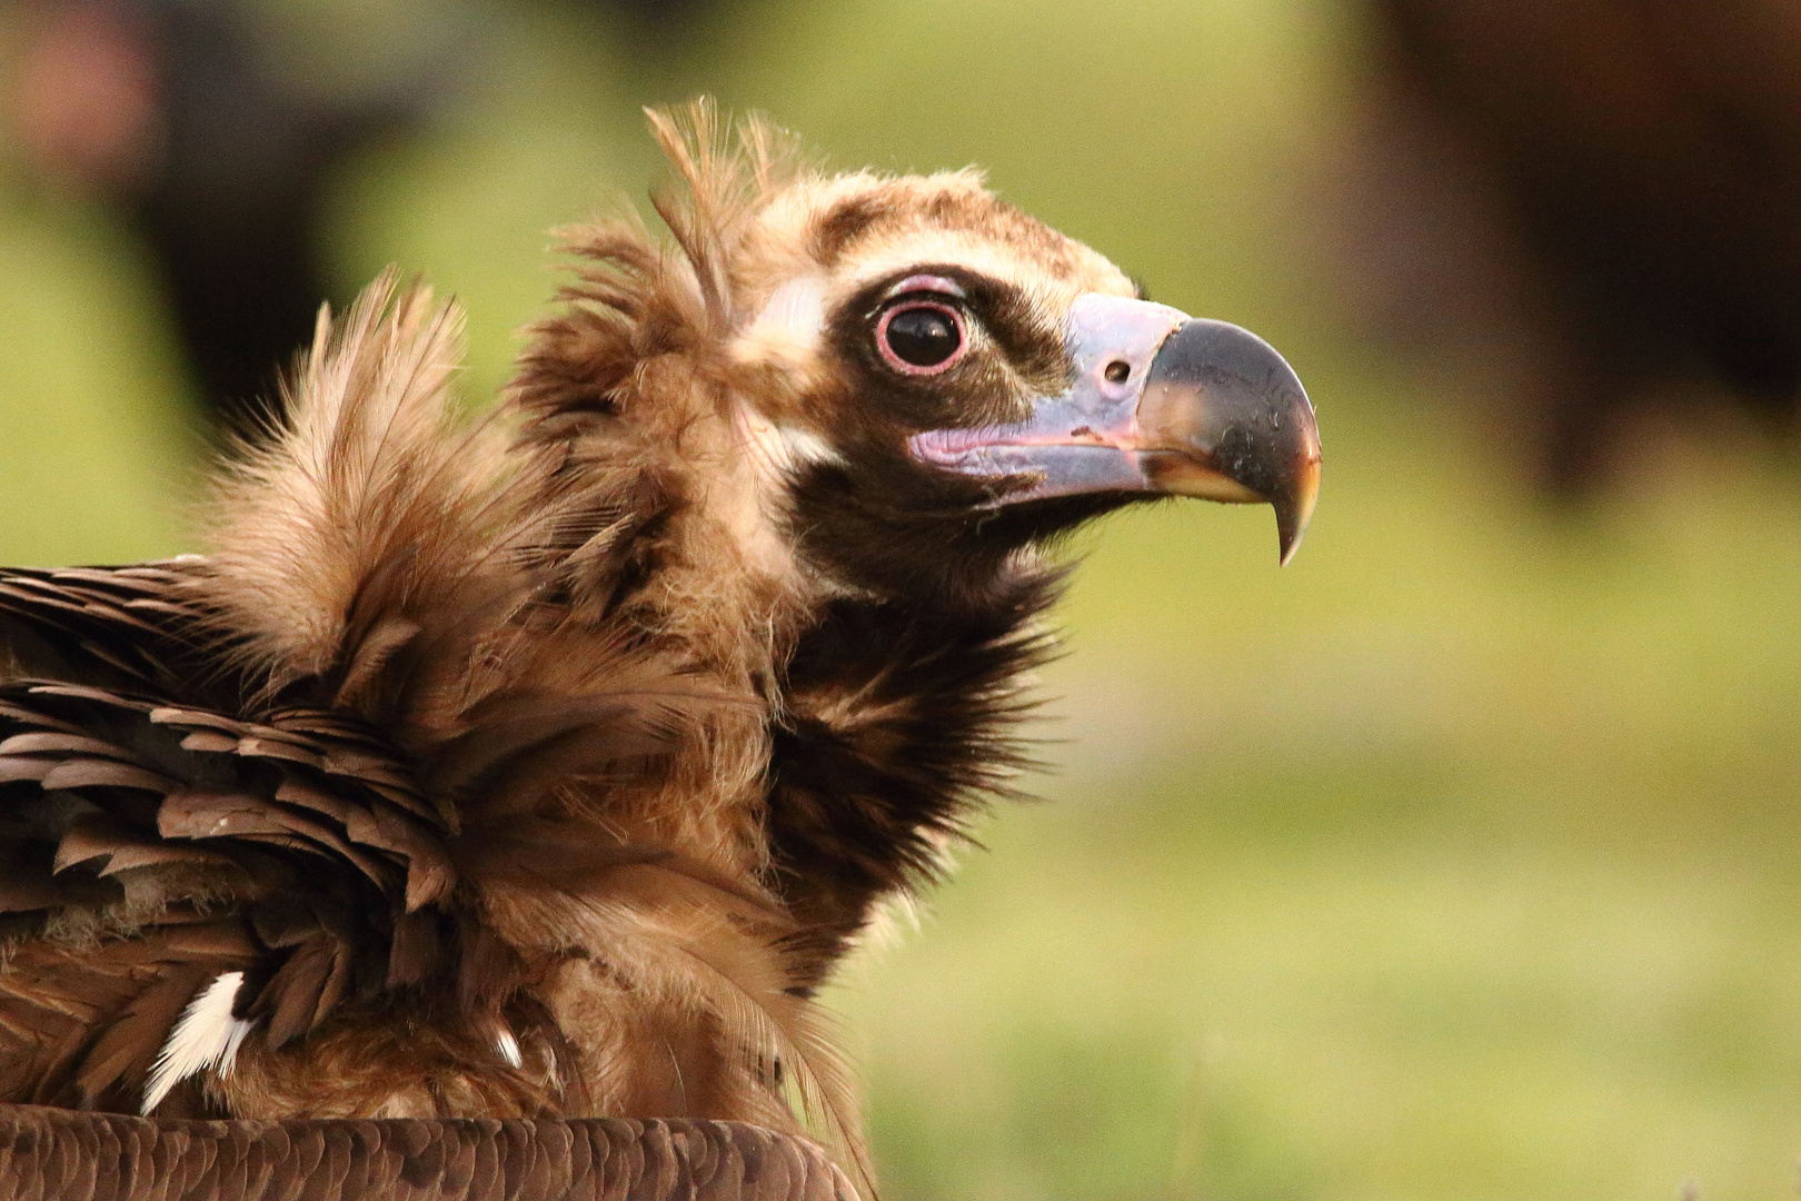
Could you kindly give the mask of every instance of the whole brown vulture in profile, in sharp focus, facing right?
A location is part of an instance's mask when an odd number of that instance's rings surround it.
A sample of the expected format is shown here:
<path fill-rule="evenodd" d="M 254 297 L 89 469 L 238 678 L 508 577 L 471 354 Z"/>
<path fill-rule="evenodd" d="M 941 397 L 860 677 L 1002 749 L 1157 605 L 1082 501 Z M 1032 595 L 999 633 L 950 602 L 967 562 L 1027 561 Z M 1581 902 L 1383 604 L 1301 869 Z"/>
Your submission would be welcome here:
<path fill-rule="evenodd" d="M 495 409 L 389 274 L 204 555 L 0 573 L 0 1197 L 855 1196 L 814 994 L 1007 792 L 1046 542 L 1293 553 L 1255 335 L 973 171 L 650 122 L 670 239 L 567 230 Z"/>

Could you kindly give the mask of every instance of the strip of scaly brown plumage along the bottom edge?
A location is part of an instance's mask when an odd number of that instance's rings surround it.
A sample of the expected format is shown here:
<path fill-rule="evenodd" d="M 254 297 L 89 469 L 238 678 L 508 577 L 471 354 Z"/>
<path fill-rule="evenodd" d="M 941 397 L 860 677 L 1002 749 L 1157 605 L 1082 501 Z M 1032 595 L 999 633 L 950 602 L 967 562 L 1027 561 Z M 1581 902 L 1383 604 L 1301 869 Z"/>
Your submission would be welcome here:
<path fill-rule="evenodd" d="M 855 1194 L 812 1143 L 735 1122 L 148 1122 L 0 1107 L 0 1201 L 126 1196 L 850 1201 Z"/>

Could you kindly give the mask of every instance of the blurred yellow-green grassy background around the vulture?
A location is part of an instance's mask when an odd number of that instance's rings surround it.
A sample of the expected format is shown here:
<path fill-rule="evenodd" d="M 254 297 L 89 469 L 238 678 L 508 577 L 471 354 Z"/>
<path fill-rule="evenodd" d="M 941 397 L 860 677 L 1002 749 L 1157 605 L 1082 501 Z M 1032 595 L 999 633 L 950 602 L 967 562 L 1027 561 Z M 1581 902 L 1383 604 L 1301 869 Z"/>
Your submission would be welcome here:
<path fill-rule="evenodd" d="M 321 61 L 405 7 L 292 0 Z M 1801 477 L 1675 441 L 1552 511 L 1488 376 L 1369 342 L 1322 248 L 1369 76 L 1333 0 L 728 4 L 661 58 L 457 9 L 452 119 L 333 184 L 331 272 L 470 313 L 470 396 L 544 230 L 657 178 L 711 92 L 843 167 L 982 164 L 1151 295 L 1243 322 L 1324 492 L 1088 535 L 1055 765 L 834 994 L 891 1201 L 1779 1197 L 1801 1154 Z M 128 230 L 0 194 L 0 556 L 191 546 L 191 389 Z M 1498 398 L 1506 412 L 1506 398 Z M 1495 405 L 1489 405 L 1495 409 Z"/>

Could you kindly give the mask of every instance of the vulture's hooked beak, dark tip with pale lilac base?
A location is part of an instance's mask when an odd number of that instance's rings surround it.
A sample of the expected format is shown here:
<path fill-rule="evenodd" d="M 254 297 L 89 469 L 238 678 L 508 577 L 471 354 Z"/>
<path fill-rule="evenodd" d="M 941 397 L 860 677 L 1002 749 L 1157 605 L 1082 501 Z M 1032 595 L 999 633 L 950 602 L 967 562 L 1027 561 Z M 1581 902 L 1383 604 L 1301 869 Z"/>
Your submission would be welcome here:
<path fill-rule="evenodd" d="M 1018 481 L 992 504 L 1147 492 L 1275 508 L 1281 562 L 1320 492 L 1320 432 L 1268 342 L 1165 304 L 1086 293 L 1066 333 L 1075 382 L 1012 425 L 917 434 L 913 456 Z"/>

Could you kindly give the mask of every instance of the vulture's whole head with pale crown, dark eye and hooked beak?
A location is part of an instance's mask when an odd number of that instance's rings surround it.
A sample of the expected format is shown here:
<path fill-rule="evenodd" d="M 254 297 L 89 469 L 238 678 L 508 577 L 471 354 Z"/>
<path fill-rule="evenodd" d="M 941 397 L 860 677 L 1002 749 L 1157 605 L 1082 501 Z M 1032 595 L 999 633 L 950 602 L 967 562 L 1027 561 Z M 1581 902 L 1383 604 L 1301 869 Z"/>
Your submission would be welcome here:
<path fill-rule="evenodd" d="M 684 182 L 657 196 L 683 256 L 571 230 L 598 270 L 540 328 L 519 400 L 605 414 L 621 439 L 722 423 L 688 492 L 747 569 L 814 598 L 980 609 L 1019 551 L 1167 495 L 1273 504 L 1293 555 L 1318 434 L 1266 342 L 1142 299 L 974 171 L 830 176 L 762 126 L 729 157 L 652 121 Z"/>

